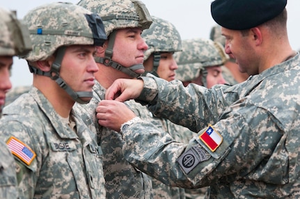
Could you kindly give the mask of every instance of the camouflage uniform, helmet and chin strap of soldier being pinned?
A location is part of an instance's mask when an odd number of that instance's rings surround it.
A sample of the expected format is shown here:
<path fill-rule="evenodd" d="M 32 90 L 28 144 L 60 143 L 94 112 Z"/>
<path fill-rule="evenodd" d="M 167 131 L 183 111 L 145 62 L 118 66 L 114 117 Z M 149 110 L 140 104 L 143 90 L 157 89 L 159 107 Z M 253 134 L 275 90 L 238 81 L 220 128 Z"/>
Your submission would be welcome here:
<path fill-rule="evenodd" d="M 119 70 L 134 77 L 136 75 L 134 71 L 111 60 L 111 52 L 116 36 L 115 30 L 136 27 L 143 30 L 150 26 L 151 21 L 148 18 L 150 15 L 143 3 L 133 0 L 83 0 L 78 4 L 92 12 L 99 13 L 104 22 L 106 35 L 109 37 L 106 58 L 95 57 L 96 62 L 106 64 L 104 60 L 107 59 L 111 64 L 106 65 L 107 67 L 118 66 Z M 109 51 L 110 49 L 111 51 Z M 90 130 L 97 132 L 97 142 L 103 151 L 106 198 L 152 198 L 150 177 L 126 161 L 122 152 L 122 139 L 118 132 L 99 126 L 97 123 L 95 108 L 100 101 L 104 100 L 105 91 L 104 87 L 95 81 L 94 97 L 90 103 L 86 105 L 77 103 L 74 109 L 81 115 Z"/>

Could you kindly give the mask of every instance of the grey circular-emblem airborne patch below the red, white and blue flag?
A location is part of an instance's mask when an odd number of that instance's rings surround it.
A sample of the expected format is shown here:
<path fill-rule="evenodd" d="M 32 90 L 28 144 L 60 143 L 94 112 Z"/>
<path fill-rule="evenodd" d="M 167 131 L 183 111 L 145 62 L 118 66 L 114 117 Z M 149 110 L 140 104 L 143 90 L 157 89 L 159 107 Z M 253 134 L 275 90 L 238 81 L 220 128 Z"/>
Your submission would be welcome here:
<path fill-rule="evenodd" d="M 210 157 L 211 156 L 199 145 L 199 147 L 193 146 L 183 153 L 177 159 L 177 162 L 180 164 L 185 173 L 189 173 L 200 162 L 210 159 Z"/>

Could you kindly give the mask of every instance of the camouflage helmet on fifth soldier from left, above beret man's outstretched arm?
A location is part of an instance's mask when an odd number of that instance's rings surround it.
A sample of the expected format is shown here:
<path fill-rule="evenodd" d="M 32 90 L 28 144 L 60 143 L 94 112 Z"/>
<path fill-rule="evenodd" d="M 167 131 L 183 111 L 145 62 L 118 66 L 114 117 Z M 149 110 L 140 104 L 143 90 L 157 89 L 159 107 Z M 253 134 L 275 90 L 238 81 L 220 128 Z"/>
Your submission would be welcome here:
<path fill-rule="evenodd" d="M 205 68 L 221 66 L 228 59 L 223 46 L 218 42 L 203 38 L 182 40 L 182 52 L 175 55 L 178 65 L 176 78 L 182 81 L 194 80 L 201 71 L 203 83 L 206 83 Z"/>

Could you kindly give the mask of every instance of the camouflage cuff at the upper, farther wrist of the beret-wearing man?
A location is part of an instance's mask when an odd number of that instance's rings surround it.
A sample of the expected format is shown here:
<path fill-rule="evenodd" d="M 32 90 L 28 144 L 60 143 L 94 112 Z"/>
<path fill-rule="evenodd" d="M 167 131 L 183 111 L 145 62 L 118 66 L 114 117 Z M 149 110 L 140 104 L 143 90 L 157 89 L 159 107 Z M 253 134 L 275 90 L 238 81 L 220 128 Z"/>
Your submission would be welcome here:
<path fill-rule="evenodd" d="M 139 79 L 143 80 L 144 87 L 141 92 L 141 95 L 136 98 L 136 101 L 145 105 L 145 104 L 155 104 L 157 102 L 157 83 L 154 78 L 150 77 L 140 77 Z"/>

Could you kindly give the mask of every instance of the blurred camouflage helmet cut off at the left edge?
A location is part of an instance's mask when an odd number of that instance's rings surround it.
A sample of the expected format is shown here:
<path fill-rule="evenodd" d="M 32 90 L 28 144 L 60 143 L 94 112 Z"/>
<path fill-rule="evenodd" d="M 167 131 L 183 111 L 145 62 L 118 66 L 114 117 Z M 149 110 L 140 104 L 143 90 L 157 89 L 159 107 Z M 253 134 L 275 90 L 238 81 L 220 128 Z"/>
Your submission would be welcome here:
<path fill-rule="evenodd" d="M 0 8 L 0 55 L 26 55 L 31 51 L 28 28 L 14 12 Z"/>

